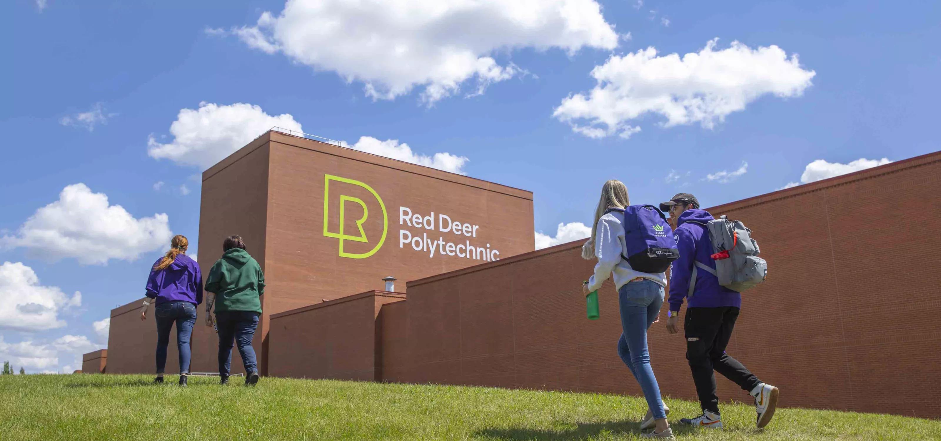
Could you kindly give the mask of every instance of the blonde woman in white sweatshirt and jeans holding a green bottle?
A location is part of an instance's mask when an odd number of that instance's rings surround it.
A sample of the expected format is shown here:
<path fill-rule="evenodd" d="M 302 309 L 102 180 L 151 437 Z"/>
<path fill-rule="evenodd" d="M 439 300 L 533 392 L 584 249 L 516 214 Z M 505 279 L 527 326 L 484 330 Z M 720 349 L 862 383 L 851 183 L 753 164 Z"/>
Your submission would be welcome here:
<path fill-rule="evenodd" d="M 669 409 L 663 405 L 660 386 L 650 368 L 646 341 L 647 328 L 660 320 L 666 275 L 635 271 L 627 260 L 621 258 L 627 249 L 624 209 L 629 205 L 628 188 L 623 182 L 612 180 L 604 183 L 595 209 L 591 239 L 582 246 L 582 258 L 598 259 L 598 264 L 595 265 L 595 274 L 582 289 L 587 295 L 601 288 L 601 284 L 614 275 L 623 331 L 617 341 L 617 354 L 644 390 L 649 410 L 641 430 L 654 427 L 652 433 L 641 433 L 641 436 L 673 438 L 673 431 L 666 420 Z"/>

